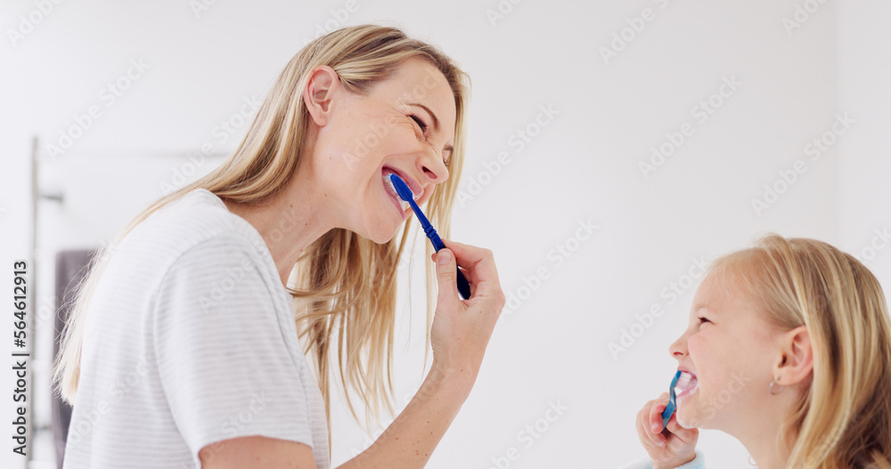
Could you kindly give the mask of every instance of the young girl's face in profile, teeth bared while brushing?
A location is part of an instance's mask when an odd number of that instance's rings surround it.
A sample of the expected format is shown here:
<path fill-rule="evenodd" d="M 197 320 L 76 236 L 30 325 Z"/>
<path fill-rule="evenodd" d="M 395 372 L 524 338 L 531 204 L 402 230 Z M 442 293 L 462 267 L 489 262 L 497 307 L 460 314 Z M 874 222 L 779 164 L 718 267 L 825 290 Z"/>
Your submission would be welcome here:
<path fill-rule="evenodd" d="M 685 428 L 732 434 L 754 428 L 770 398 L 780 331 L 734 280 L 728 271 L 703 279 L 687 330 L 669 348 L 678 369 L 696 377 L 678 393 L 677 419 Z"/>

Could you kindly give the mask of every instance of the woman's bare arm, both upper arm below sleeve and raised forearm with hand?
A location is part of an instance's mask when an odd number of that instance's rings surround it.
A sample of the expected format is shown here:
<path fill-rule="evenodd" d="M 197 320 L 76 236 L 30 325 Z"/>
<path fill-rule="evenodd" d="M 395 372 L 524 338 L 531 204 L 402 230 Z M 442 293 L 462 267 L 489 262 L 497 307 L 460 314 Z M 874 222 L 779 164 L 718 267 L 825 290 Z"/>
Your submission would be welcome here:
<path fill-rule="evenodd" d="M 448 249 L 437 255 L 437 261 L 445 263 L 437 263 L 439 295 L 430 333 L 430 372 L 421 389 L 378 440 L 339 469 L 421 469 L 470 394 L 489 337 L 504 307 L 504 295 L 491 251 L 444 242 Z M 461 300 L 455 286 L 455 257 L 470 282 L 468 300 Z M 243 437 L 208 445 L 200 454 L 205 452 L 207 459 L 201 457 L 204 469 L 316 467 L 312 450 L 296 441 Z"/>

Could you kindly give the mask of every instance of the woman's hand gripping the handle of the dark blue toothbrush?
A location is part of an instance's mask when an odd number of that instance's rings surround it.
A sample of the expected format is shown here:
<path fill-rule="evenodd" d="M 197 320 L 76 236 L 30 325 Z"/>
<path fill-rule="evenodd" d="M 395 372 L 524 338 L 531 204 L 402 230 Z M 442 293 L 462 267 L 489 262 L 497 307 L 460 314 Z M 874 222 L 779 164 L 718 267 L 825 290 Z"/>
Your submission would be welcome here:
<path fill-rule="evenodd" d="M 477 378 L 495 322 L 504 308 L 504 294 L 492 251 L 443 239 L 446 248 L 432 257 L 437 263 L 439 295 L 430 332 L 433 367 L 442 376 L 466 378 L 466 391 Z M 455 259 L 470 283 L 462 300 L 455 283 Z"/>

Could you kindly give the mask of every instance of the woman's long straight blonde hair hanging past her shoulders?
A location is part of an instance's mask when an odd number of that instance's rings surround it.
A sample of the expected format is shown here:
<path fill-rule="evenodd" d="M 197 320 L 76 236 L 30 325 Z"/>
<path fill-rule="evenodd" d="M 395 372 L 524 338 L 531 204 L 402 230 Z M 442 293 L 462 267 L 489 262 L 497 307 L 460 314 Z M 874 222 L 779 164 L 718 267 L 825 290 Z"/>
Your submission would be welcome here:
<path fill-rule="evenodd" d="M 464 158 L 464 113 L 470 98 L 470 77 L 437 47 L 409 38 L 399 28 L 360 25 L 321 36 L 301 49 L 284 68 L 238 150 L 210 174 L 159 198 L 121 231 L 115 243 L 95 257 L 74 300 L 61 353 L 53 368 L 53 381 L 59 383 L 63 399 L 74 402 L 88 303 L 120 239 L 162 206 L 198 188 L 238 204 L 260 204 L 273 198 L 290 182 L 299 159 L 303 158 L 310 123 L 302 96 L 308 72 L 326 65 L 337 72 L 348 91 L 366 94 L 372 85 L 392 76 L 401 64 L 412 58 L 426 60 L 442 72 L 454 93 L 454 150 L 446 165 L 450 177 L 433 191 L 427 206 L 431 222 L 439 234 L 447 238 Z M 429 86 L 427 80 L 410 90 L 409 96 L 420 98 L 429 91 L 425 86 Z M 350 160 L 345 159 L 345 164 L 350 164 Z M 295 319 L 307 353 L 315 363 L 329 415 L 332 376 L 339 379 L 354 416 L 356 408 L 350 390 L 365 404 L 366 423 L 370 416 L 380 416 L 381 404 L 392 413 L 390 368 L 396 270 L 406 240 L 410 238 L 411 226 L 405 223 L 402 236 L 384 244 L 376 244 L 348 230 L 331 230 L 307 249 L 292 271 L 290 293 L 300 300 L 295 303 L 303 304 L 295 311 Z M 432 253 L 427 244 L 428 257 Z M 435 306 L 436 272 L 432 263 L 426 264 L 429 326 Z"/>

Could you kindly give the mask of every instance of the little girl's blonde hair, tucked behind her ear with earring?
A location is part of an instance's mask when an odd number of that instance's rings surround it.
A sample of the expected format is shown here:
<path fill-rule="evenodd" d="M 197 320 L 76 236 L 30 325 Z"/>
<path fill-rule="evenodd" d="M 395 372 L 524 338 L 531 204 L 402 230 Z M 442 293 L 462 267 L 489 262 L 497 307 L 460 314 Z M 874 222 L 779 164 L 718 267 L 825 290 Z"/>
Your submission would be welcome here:
<path fill-rule="evenodd" d="M 891 325 L 871 271 L 822 241 L 777 235 L 712 263 L 722 269 L 769 322 L 811 339 L 812 380 L 778 441 L 787 467 L 891 468 Z"/>

